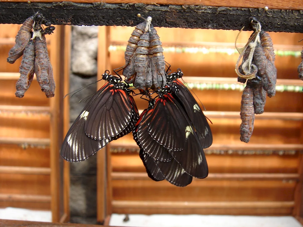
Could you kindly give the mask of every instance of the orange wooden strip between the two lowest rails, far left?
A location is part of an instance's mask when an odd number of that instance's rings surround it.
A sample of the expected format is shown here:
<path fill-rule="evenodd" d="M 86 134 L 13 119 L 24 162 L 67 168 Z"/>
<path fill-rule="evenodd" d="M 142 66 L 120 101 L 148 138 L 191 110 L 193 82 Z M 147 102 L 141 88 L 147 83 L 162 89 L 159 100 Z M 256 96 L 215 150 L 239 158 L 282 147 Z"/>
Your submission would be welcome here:
<path fill-rule="evenodd" d="M 0 174 L 0 193 L 50 195 L 50 176 Z"/>

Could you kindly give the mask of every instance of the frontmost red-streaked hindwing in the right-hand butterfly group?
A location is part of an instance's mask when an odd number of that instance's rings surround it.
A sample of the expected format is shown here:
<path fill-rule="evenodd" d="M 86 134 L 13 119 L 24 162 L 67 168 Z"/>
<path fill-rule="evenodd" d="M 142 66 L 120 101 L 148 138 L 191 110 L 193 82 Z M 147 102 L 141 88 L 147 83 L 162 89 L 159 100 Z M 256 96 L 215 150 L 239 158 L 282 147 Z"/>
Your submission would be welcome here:
<path fill-rule="evenodd" d="M 184 114 L 171 98 L 171 95 L 165 95 L 156 100 L 148 123 L 148 132 L 166 149 L 183 150 L 186 142 L 183 134 L 187 125 L 181 120 Z"/>

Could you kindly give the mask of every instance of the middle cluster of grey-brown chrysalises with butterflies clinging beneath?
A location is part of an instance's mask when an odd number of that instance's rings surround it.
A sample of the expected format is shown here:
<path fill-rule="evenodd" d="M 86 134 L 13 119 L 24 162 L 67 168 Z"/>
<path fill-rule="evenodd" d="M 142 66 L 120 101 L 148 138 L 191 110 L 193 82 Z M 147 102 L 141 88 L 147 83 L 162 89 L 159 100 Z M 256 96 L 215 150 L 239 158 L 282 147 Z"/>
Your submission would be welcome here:
<path fill-rule="evenodd" d="M 138 16 L 141 17 L 139 14 Z M 128 40 L 125 51 L 125 82 L 139 90 L 160 88 L 166 84 L 165 61 L 162 43 L 151 17 L 137 25 Z"/>

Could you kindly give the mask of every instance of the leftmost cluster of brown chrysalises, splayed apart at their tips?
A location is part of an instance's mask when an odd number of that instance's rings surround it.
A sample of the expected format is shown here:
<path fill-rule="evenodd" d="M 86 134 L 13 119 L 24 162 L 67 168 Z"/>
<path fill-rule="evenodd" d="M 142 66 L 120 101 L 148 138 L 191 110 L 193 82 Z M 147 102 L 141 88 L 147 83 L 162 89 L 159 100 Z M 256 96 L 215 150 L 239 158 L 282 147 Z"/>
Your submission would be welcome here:
<path fill-rule="evenodd" d="M 42 24 L 48 26 L 43 29 Z M 55 95 L 55 81 L 49 60 L 45 35 L 51 34 L 54 26 L 42 14 L 27 18 L 15 39 L 15 45 L 8 53 L 7 62 L 13 64 L 23 54 L 19 68 L 20 78 L 16 83 L 16 97 L 22 98 L 32 83 L 34 74 L 46 97 Z"/>

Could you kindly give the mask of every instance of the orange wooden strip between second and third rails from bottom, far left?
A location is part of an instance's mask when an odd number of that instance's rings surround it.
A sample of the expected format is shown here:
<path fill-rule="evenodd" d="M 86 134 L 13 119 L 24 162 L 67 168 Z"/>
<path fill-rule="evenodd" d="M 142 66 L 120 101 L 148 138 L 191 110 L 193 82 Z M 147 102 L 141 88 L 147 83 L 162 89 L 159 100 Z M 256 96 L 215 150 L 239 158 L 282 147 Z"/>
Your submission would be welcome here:
<path fill-rule="evenodd" d="M 0 166 L 49 167 L 49 149 L 0 144 Z"/>

